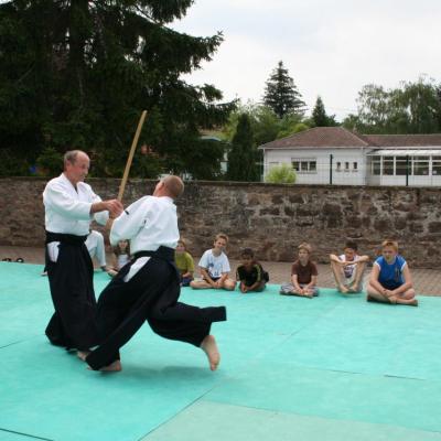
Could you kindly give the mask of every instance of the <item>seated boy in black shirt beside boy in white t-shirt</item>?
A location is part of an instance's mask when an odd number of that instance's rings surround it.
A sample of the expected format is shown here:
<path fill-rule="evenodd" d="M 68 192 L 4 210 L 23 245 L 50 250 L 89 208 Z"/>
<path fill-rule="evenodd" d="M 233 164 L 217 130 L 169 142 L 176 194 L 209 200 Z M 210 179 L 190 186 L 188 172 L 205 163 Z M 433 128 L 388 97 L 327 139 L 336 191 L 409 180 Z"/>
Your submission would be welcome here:
<path fill-rule="evenodd" d="M 255 260 L 251 248 L 245 248 L 240 252 L 241 265 L 237 267 L 236 280 L 239 282 L 240 292 L 263 291 L 269 276 L 262 266 Z"/>

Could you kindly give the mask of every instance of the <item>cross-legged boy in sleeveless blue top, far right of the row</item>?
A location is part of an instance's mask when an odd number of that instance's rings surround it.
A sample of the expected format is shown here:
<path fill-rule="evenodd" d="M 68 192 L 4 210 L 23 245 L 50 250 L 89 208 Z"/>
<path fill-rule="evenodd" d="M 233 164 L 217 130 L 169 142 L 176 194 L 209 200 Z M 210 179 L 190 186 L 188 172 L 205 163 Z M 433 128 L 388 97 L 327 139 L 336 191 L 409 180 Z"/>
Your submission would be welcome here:
<path fill-rule="evenodd" d="M 381 255 L 374 262 L 366 300 L 418 306 L 409 267 L 398 255 L 398 243 L 385 240 Z"/>

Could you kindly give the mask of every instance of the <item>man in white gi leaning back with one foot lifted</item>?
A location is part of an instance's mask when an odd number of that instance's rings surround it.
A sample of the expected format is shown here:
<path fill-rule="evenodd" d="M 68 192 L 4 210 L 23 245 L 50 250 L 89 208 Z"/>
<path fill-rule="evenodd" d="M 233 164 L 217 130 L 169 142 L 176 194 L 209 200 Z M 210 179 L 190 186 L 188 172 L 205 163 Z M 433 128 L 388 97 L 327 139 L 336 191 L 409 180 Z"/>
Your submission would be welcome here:
<path fill-rule="evenodd" d="M 209 368 L 217 368 L 220 356 L 209 330 L 213 322 L 226 320 L 225 308 L 196 308 L 178 301 L 180 277 L 174 249 L 180 234 L 173 200 L 183 191 L 180 178 L 165 176 L 153 196 L 141 197 L 114 220 L 110 243 L 130 239 L 133 258 L 98 299 L 103 341 L 86 357 L 93 369 L 121 370 L 119 348 L 146 320 L 157 334 L 201 347 Z"/>

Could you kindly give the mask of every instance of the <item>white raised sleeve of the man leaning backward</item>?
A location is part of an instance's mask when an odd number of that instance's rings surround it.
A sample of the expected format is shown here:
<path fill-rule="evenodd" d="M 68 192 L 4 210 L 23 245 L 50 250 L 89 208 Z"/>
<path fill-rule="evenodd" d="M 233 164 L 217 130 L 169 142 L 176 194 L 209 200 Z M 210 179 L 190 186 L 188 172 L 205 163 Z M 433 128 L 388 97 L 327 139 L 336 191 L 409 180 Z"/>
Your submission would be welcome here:
<path fill-rule="evenodd" d="M 141 197 L 129 205 L 115 220 L 110 229 L 110 244 L 133 238 L 144 226 L 152 203 L 149 196 Z"/>

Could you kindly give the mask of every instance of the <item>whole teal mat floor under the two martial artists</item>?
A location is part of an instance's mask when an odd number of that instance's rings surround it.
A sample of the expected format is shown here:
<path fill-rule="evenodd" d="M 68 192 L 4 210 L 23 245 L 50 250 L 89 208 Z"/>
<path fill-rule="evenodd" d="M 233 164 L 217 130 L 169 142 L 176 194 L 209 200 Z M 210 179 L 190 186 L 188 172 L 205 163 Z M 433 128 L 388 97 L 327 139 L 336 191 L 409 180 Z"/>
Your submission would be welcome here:
<path fill-rule="evenodd" d="M 219 370 L 146 325 L 122 373 L 101 374 L 47 343 L 41 270 L 0 263 L 0 441 L 441 440 L 439 298 L 410 308 L 326 289 L 313 300 L 275 286 L 184 289 L 187 303 L 227 306 L 213 326 Z M 96 272 L 96 292 L 108 281 Z"/>

